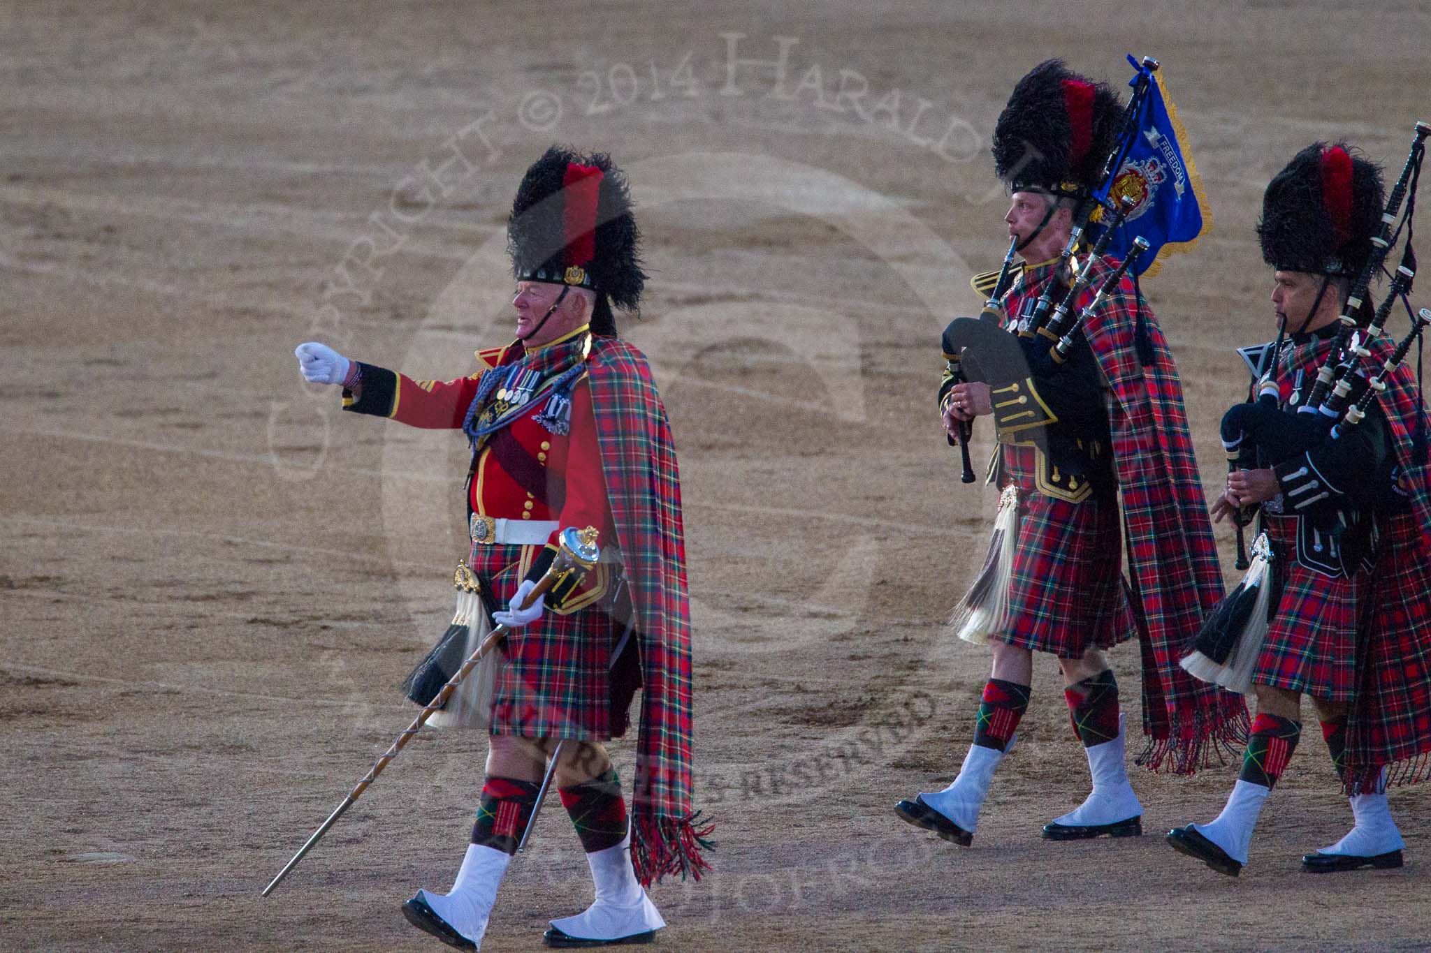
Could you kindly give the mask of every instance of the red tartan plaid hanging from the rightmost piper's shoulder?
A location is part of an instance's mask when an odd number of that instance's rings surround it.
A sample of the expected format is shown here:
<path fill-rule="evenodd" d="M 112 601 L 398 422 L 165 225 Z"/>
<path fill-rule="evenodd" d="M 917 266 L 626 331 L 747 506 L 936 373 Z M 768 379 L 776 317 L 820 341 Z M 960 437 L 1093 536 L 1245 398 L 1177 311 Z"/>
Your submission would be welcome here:
<path fill-rule="evenodd" d="M 1395 341 L 1382 334 L 1368 349 L 1364 366 L 1378 367 Z M 1377 517 L 1365 644 L 1347 723 L 1351 794 L 1375 790 L 1382 767 L 1387 784 L 1431 776 L 1431 467 L 1417 447 L 1421 387 L 1405 363 L 1388 376 L 1378 403 L 1391 429 L 1397 483 L 1410 493 L 1412 512 Z"/>

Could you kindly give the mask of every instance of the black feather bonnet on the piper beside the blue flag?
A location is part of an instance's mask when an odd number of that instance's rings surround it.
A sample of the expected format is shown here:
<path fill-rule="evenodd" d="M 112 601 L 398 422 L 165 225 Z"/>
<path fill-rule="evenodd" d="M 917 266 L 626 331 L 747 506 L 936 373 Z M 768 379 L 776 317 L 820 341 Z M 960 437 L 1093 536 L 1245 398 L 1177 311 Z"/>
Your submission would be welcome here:
<path fill-rule="evenodd" d="M 995 171 L 1010 191 L 1085 197 L 1118 137 L 1123 106 L 1106 83 L 1046 60 L 1019 80 L 993 130 Z"/>

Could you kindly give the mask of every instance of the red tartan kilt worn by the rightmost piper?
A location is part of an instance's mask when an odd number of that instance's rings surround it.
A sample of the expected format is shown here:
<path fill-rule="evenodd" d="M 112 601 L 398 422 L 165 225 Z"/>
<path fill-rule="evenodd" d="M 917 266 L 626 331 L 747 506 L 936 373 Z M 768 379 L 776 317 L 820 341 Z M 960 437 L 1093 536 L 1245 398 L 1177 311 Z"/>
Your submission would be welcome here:
<path fill-rule="evenodd" d="M 1278 603 L 1252 682 L 1345 702 L 1357 687 L 1357 637 L 1367 573 L 1347 579 L 1302 566 L 1295 556 L 1298 519 L 1268 513 L 1265 520 Z"/>

